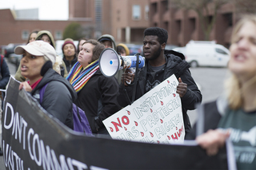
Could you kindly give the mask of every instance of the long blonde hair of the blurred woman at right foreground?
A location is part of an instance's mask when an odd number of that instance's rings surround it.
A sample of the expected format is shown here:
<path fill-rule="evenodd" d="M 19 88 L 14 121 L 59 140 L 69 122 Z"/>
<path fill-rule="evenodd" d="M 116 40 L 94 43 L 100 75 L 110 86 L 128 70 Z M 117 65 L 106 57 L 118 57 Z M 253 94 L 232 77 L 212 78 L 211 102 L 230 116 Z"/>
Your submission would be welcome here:
<path fill-rule="evenodd" d="M 231 34 L 231 44 L 235 43 L 236 34 L 238 34 L 238 31 L 247 22 L 252 22 L 256 26 L 256 15 L 244 15 L 243 18 L 238 21 Z M 242 107 L 244 104 L 242 94 L 250 87 L 256 88 L 256 73 L 255 76 L 252 77 L 250 81 L 247 81 L 243 86 L 238 80 L 238 77 L 232 74 L 232 76 L 225 82 L 226 95 L 230 109 L 239 109 Z M 254 105 L 256 105 L 256 97 L 254 98 Z"/>

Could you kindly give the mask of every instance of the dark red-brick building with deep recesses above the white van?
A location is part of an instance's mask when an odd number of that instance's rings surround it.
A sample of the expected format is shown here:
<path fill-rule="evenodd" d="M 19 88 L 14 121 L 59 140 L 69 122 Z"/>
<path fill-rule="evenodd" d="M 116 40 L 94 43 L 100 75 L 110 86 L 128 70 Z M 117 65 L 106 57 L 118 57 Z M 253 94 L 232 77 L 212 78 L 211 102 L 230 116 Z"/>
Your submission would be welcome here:
<path fill-rule="evenodd" d="M 190 40 L 204 40 L 198 14 L 194 10 L 175 8 L 169 0 L 149 1 L 150 26 L 166 29 L 169 33 L 168 44 L 184 46 Z M 234 5 L 232 3 L 222 5 L 218 10 L 216 24 L 210 32 L 210 40 L 229 46 L 230 34 L 235 21 Z"/>

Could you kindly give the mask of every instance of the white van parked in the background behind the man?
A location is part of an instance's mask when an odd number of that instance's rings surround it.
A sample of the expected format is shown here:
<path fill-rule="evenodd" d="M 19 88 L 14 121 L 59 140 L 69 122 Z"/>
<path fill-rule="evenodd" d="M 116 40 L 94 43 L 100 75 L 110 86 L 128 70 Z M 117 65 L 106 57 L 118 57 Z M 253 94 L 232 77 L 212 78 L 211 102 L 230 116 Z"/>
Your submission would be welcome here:
<path fill-rule="evenodd" d="M 214 41 L 190 41 L 185 47 L 174 50 L 183 53 L 191 67 L 226 67 L 230 60 L 229 49 Z"/>

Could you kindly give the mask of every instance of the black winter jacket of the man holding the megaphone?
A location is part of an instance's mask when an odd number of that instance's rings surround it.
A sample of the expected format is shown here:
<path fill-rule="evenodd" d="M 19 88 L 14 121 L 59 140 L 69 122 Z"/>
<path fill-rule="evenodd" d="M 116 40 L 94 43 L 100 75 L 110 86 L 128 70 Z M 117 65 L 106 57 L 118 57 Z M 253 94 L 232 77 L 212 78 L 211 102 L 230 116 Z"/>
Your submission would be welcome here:
<path fill-rule="evenodd" d="M 191 77 L 189 70 L 190 65 L 186 61 L 184 61 L 184 56 L 182 55 L 182 53 L 177 53 L 172 50 L 166 50 L 165 55 L 167 57 L 167 62 L 166 67 L 164 68 L 164 77 L 162 81 L 166 80 L 166 78 L 174 74 L 177 79 L 178 77 L 181 77 L 182 81 L 187 84 L 186 94 L 181 98 L 183 121 L 187 133 L 190 131 L 191 125 L 190 119 L 186 112 L 187 110 L 195 109 L 195 104 L 201 103 L 202 94 L 198 89 L 198 86 L 195 84 L 194 79 Z M 179 57 L 176 55 L 179 55 Z M 146 61 L 145 67 L 138 70 L 138 83 L 136 88 L 135 100 L 145 94 L 147 68 L 148 62 Z M 130 105 L 133 89 L 134 85 L 119 85 L 119 105 L 121 105 L 122 107 Z"/>

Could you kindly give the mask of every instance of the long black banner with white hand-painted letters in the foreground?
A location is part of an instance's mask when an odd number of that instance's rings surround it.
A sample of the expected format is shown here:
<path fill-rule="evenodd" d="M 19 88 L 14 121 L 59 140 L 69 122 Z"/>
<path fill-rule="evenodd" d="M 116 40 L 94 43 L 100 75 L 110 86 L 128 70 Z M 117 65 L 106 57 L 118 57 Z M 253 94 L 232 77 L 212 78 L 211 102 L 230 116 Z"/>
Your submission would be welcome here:
<path fill-rule="evenodd" d="M 2 117 L 2 151 L 6 169 L 235 167 L 234 157 L 226 153 L 230 143 L 217 156 L 206 156 L 194 141 L 191 144 L 147 144 L 73 132 L 46 113 L 25 90 L 18 90 L 18 85 L 17 81 L 10 79 Z"/>

